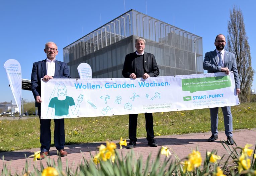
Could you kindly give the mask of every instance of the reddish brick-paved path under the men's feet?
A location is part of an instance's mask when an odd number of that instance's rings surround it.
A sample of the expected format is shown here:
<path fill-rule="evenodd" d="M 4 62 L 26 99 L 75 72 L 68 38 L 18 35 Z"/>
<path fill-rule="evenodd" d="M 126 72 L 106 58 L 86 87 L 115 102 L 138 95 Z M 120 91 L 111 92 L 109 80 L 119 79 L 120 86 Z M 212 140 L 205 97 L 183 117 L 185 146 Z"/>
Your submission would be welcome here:
<path fill-rule="evenodd" d="M 246 143 L 253 144 L 254 148 L 255 141 L 256 141 L 256 129 L 251 130 L 235 130 L 233 132 L 234 140 L 238 146 L 244 147 Z M 205 157 L 206 150 L 211 151 L 213 149 L 218 150 L 218 155 L 227 154 L 225 148 L 222 146 L 220 140 L 227 140 L 227 137 L 224 134 L 224 131 L 219 132 L 219 139 L 215 142 L 207 142 L 207 139 L 211 136 L 211 133 L 191 133 L 191 134 L 184 134 L 184 135 L 169 135 L 169 136 L 158 136 L 156 137 L 158 147 L 152 148 L 147 145 L 146 139 L 138 139 L 137 146 L 132 149 L 135 153 L 136 157 L 140 155 L 143 156 L 144 161 L 147 160 L 149 153 L 152 154 L 152 158 L 154 158 L 161 146 L 168 146 L 172 148 L 172 150 L 179 156 L 179 158 L 186 157 L 190 152 L 191 149 L 196 149 L 198 146 L 199 151 L 201 152 L 202 157 Z M 117 143 L 118 141 L 113 141 Z M 102 143 L 85 143 L 85 144 L 73 144 L 65 146 L 66 151 L 68 152 L 68 156 L 62 157 L 62 165 L 63 169 L 65 170 L 66 162 L 68 162 L 69 166 L 73 164 L 73 168 L 76 168 L 78 164 L 81 163 L 81 158 L 84 156 L 87 160 L 89 160 L 91 151 L 92 154 L 95 154 L 97 151 L 97 146 L 100 146 Z M 39 151 L 40 148 L 33 148 L 33 149 L 26 149 L 26 150 L 19 150 L 19 151 L 12 151 L 12 152 L 0 152 L 0 157 L 4 156 L 4 161 L 0 161 L 0 172 L 3 168 L 3 164 L 6 164 L 8 167 L 11 168 L 11 173 L 14 174 L 17 172 L 21 174 L 22 169 L 25 165 L 25 157 L 33 154 L 35 151 Z M 122 152 L 125 155 L 128 151 L 125 148 L 122 150 L 118 149 L 118 152 Z M 173 152 L 172 152 L 173 153 Z M 57 150 L 55 147 L 51 147 L 50 150 L 50 158 L 57 160 Z M 161 156 L 164 158 L 164 156 Z M 174 156 L 172 155 L 174 159 Z M 29 158 L 30 161 L 29 170 L 33 170 L 33 165 L 40 165 L 40 161 L 33 162 L 32 158 Z M 42 160 L 44 166 L 46 166 L 46 160 Z"/>

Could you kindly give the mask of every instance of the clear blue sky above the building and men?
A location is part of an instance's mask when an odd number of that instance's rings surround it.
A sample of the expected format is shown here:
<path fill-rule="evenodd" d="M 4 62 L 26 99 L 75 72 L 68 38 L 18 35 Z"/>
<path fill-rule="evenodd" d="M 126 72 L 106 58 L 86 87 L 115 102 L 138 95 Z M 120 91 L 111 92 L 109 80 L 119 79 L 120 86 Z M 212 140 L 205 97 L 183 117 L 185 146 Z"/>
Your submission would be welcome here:
<path fill-rule="evenodd" d="M 124 6 L 125 4 L 125 6 Z M 130 9 L 152 16 L 203 38 L 203 55 L 215 49 L 217 34 L 227 34 L 230 9 L 243 12 L 251 47 L 252 67 L 256 70 L 256 1 L 225 0 L 3 0 L 0 5 L 0 102 L 14 101 L 3 65 L 8 59 L 21 64 L 22 78 L 30 79 L 33 62 L 46 58 L 44 44 L 54 41 L 57 59 L 63 61 L 63 48 Z M 154 53 L 153 53 L 154 54 Z M 256 75 L 252 88 L 256 89 Z M 31 91 L 22 97 L 34 101 Z"/>

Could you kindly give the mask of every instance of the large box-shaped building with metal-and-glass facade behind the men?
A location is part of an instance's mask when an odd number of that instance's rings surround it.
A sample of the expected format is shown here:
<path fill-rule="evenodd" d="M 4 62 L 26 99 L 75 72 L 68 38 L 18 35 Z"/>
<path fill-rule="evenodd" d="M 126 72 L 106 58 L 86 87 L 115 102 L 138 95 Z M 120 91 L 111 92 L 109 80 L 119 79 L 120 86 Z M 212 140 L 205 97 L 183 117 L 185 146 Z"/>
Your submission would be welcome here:
<path fill-rule="evenodd" d="M 63 49 L 71 77 L 79 78 L 77 66 L 85 62 L 92 78 L 122 78 L 138 36 L 146 40 L 145 52 L 155 55 L 159 76 L 203 73 L 202 37 L 130 10 Z"/>

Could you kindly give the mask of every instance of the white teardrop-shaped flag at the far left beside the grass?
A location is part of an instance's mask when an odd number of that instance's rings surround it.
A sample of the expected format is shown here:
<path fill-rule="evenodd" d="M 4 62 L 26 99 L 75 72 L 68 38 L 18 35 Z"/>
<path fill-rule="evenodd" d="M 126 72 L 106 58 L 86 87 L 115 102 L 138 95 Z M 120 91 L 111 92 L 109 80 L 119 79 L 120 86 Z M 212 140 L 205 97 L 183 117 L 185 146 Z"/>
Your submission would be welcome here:
<path fill-rule="evenodd" d="M 12 90 L 17 107 L 21 106 L 21 66 L 15 59 L 9 59 L 4 63 L 4 68 L 7 74 L 7 78 Z"/>

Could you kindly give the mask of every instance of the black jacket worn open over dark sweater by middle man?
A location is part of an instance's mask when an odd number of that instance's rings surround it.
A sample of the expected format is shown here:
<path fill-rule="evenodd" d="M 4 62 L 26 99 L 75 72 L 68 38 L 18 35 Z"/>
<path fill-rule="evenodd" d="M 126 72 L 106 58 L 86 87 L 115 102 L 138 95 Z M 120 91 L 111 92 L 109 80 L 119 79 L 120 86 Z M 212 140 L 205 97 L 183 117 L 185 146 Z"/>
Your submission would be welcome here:
<path fill-rule="evenodd" d="M 125 78 L 129 78 L 132 73 L 136 72 L 136 52 L 127 54 L 125 56 L 122 75 Z M 154 54 L 144 52 L 143 57 L 143 69 L 145 73 L 148 73 L 150 77 L 158 76 L 159 69 L 156 63 Z"/>

